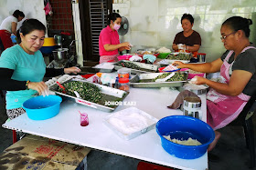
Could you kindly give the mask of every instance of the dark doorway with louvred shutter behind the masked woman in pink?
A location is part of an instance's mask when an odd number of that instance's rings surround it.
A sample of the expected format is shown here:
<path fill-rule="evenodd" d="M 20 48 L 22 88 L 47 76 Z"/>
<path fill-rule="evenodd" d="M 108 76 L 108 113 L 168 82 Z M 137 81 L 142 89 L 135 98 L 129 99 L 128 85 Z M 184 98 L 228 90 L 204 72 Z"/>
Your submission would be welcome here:
<path fill-rule="evenodd" d="M 83 0 L 79 7 L 83 60 L 99 62 L 99 36 L 107 26 L 112 0 Z"/>

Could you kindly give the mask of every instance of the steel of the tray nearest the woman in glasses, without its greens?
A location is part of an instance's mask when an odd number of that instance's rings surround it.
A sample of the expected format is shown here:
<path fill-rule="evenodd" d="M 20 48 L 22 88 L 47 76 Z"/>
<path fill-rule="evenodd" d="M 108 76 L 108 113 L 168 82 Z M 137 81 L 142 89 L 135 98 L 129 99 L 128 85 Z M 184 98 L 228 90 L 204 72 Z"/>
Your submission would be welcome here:
<path fill-rule="evenodd" d="M 186 75 L 188 75 L 187 72 L 184 72 Z M 184 83 L 187 82 L 187 79 L 185 81 L 176 81 L 176 82 L 148 82 L 148 83 L 140 83 L 140 80 L 150 80 L 154 79 L 158 75 L 162 75 L 163 73 L 153 73 L 153 74 L 140 74 L 135 75 L 130 80 L 130 85 L 136 88 L 150 88 L 150 87 L 178 87 L 182 86 Z"/>

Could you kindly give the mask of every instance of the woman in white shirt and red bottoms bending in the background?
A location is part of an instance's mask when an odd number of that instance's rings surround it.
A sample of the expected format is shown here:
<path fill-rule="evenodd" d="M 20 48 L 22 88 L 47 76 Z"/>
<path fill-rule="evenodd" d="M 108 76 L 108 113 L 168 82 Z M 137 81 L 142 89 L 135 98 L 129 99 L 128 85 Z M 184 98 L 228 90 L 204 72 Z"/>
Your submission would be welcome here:
<path fill-rule="evenodd" d="M 5 20 L 0 25 L 0 38 L 2 40 L 2 48 L 5 49 L 13 46 L 11 39 L 11 34 L 16 35 L 16 25 L 17 22 L 21 21 L 25 17 L 22 11 L 16 10 L 13 15 L 5 18 Z M 1 49 L 4 51 L 5 49 Z"/>

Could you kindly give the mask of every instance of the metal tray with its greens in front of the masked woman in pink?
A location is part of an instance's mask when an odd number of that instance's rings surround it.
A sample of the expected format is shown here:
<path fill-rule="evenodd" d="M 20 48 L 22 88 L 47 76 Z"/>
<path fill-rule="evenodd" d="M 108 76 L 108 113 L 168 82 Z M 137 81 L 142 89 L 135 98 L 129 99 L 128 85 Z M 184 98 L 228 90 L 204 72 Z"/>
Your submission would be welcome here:
<path fill-rule="evenodd" d="M 148 65 L 144 63 L 131 62 L 127 60 L 121 60 L 113 65 L 115 70 L 119 70 L 123 67 L 131 68 L 132 74 L 155 73 L 157 72 L 158 69 L 157 65 Z"/>

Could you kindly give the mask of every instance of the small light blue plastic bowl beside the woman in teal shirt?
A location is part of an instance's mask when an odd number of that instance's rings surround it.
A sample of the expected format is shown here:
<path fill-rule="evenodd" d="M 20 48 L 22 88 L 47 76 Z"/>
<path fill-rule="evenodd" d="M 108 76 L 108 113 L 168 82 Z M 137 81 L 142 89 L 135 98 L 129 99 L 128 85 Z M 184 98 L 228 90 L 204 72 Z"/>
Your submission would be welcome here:
<path fill-rule="evenodd" d="M 23 103 L 27 116 L 32 120 L 46 120 L 59 114 L 62 98 L 59 95 L 36 96 Z"/>

